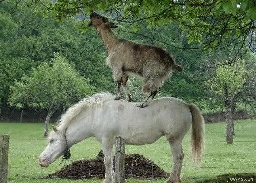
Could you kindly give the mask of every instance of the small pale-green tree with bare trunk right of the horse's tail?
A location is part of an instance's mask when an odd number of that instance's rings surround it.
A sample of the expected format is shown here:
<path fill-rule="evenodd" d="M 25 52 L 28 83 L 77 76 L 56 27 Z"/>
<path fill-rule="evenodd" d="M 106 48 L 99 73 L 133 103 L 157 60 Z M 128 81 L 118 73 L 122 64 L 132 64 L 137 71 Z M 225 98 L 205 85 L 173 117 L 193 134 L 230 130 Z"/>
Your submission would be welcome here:
<path fill-rule="evenodd" d="M 233 117 L 232 104 L 234 98 L 244 84 L 251 71 L 246 70 L 245 61 L 239 60 L 236 64 L 228 66 L 217 67 L 216 76 L 210 80 L 205 81 L 205 84 L 216 95 L 223 97 L 226 112 L 226 142 L 233 143 Z"/>

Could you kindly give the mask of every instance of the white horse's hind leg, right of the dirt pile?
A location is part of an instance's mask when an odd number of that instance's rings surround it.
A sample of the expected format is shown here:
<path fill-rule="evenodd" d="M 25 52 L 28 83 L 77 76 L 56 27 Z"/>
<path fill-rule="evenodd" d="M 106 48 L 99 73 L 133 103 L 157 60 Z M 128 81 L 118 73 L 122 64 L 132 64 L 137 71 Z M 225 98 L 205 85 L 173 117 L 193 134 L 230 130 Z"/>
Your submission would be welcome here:
<path fill-rule="evenodd" d="M 168 138 L 169 144 L 171 145 L 171 151 L 173 156 L 173 168 L 170 173 L 170 177 L 165 183 L 179 183 L 181 182 L 181 167 L 183 162 L 183 150 L 182 142 L 180 139 Z"/>

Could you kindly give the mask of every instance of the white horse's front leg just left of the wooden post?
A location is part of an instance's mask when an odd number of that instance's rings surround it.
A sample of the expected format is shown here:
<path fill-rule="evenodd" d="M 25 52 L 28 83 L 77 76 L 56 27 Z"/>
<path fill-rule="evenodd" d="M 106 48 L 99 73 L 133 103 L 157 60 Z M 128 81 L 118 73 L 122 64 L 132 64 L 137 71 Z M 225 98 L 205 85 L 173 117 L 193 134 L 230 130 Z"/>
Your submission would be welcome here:
<path fill-rule="evenodd" d="M 113 140 L 102 140 L 102 148 L 104 154 L 104 164 L 106 168 L 105 179 L 103 183 L 114 183 L 115 173 L 113 169 Z"/>

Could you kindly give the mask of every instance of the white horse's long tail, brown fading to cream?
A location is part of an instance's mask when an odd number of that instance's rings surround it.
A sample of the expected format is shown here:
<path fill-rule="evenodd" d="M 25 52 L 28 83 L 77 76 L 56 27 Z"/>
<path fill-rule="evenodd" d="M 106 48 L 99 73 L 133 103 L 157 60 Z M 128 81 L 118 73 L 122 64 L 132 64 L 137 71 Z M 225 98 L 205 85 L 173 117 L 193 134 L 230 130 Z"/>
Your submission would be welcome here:
<path fill-rule="evenodd" d="M 193 163 L 200 163 L 205 148 L 205 123 L 200 110 L 194 104 L 189 104 L 192 114 L 191 158 Z"/>

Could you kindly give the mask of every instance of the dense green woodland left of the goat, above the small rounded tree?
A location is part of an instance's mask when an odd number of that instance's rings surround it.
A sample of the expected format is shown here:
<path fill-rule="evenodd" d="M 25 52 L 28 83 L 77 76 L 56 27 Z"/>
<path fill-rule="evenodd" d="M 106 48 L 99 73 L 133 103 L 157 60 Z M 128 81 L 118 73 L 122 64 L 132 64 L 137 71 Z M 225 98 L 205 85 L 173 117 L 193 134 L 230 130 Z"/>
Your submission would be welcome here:
<path fill-rule="evenodd" d="M 75 28 L 77 19 L 57 22 L 40 12 L 35 14 L 26 3 L 12 9 L 13 2 L 0 3 L 0 15 L 11 21 L 0 25 L 4 32 L 0 33 L 0 104 L 4 109 L 8 107 L 10 85 L 30 76 L 31 68 L 41 62 L 50 64 L 54 52 L 61 52 L 96 87 L 95 91 L 113 92 L 112 73 L 104 61 L 106 52 L 95 32 L 81 34 Z"/>

